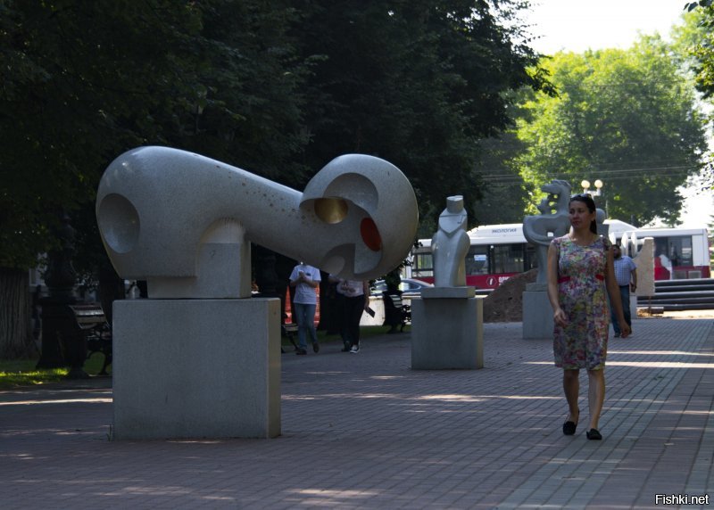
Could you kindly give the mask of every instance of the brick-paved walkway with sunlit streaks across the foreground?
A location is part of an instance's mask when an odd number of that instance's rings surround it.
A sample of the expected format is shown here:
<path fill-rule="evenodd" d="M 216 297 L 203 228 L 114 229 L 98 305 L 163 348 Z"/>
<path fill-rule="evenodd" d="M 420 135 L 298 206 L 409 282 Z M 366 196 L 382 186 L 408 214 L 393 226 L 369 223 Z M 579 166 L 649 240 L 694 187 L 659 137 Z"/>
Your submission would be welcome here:
<path fill-rule="evenodd" d="M 0 507 L 658 508 L 675 501 L 658 494 L 714 497 L 714 319 L 634 329 L 610 340 L 602 441 L 585 439 L 585 373 L 580 425 L 562 435 L 551 341 L 522 340 L 520 323 L 485 325 L 482 370 L 412 371 L 408 333 L 369 338 L 359 354 L 339 341 L 288 352 L 274 440 L 110 441 L 110 379 L 3 391 Z"/>

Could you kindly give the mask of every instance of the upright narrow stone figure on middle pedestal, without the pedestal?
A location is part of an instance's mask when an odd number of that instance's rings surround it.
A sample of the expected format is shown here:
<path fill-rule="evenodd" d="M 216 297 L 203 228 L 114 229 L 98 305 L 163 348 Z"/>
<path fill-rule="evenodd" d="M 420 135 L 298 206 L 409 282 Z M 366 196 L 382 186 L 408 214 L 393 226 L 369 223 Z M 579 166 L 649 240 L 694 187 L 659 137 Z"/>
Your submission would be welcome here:
<path fill-rule="evenodd" d="M 431 240 L 435 287 L 466 285 L 465 257 L 470 245 L 466 219 L 463 197 L 448 197 L 446 209 L 439 216 L 439 229 Z"/>

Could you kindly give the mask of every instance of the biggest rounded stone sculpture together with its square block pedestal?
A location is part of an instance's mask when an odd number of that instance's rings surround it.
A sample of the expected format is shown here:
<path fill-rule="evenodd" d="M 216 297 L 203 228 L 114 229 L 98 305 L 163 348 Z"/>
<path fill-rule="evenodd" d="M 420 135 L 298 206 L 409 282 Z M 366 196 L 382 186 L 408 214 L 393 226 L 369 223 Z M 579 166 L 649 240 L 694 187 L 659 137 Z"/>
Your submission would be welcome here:
<path fill-rule="evenodd" d="M 114 302 L 114 437 L 275 437 L 280 308 L 251 297 L 250 243 L 348 278 L 399 265 L 417 230 L 394 165 L 351 154 L 303 193 L 198 154 L 143 147 L 104 173 L 96 218 L 117 273 L 148 300 Z"/>

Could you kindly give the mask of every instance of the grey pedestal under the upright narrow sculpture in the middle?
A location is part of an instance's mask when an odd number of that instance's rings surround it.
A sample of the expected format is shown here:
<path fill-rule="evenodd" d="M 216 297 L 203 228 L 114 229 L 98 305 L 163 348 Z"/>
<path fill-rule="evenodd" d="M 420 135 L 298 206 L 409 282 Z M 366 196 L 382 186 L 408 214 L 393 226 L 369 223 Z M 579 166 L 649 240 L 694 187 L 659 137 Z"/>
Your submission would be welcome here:
<path fill-rule="evenodd" d="M 483 368 L 484 303 L 475 298 L 411 300 L 411 368 Z"/>

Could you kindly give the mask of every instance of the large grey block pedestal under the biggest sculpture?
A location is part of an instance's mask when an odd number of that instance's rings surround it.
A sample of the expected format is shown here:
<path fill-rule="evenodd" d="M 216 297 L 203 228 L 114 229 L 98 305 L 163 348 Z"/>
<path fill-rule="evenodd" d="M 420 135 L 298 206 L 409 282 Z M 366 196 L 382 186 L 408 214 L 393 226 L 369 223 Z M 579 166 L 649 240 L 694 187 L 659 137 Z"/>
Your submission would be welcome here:
<path fill-rule="evenodd" d="M 280 434 L 280 300 L 114 302 L 114 437 Z"/>

